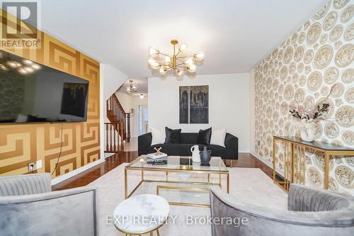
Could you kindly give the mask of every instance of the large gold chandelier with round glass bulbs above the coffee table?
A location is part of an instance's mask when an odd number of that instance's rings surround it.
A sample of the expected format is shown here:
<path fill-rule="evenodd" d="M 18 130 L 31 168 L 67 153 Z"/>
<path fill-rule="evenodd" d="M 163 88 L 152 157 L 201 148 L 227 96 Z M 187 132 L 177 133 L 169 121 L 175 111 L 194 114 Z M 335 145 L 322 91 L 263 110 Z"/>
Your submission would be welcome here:
<path fill-rule="evenodd" d="M 187 44 L 181 43 L 176 52 L 176 45 L 178 40 L 171 40 L 173 45 L 173 55 L 160 52 L 156 47 L 149 47 L 149 62 L 152 69 L 158 69 L 160 74 L 166 74 L 170 71 L 175 71 L 176 75 L 181 76 L 183 69 L 188 72 L 195 72 L 195 61 L 202 61 L 204 59 L 204 52 L 196 52 L 192 56 L 178 56 L 181 52 L 187 49 Z"/>

